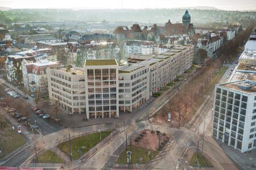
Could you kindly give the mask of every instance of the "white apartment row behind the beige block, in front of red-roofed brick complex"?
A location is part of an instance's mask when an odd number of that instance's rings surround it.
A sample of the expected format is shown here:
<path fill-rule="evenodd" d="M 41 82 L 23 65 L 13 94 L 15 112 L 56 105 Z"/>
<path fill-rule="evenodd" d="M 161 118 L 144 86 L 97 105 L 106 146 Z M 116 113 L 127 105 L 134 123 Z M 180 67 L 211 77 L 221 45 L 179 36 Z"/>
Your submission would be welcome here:
<path fill-rule="evenodd" d="M 157 48 L 154 41 L 130 40 L 123 44 L 126 54 L 157 54 Z"/>

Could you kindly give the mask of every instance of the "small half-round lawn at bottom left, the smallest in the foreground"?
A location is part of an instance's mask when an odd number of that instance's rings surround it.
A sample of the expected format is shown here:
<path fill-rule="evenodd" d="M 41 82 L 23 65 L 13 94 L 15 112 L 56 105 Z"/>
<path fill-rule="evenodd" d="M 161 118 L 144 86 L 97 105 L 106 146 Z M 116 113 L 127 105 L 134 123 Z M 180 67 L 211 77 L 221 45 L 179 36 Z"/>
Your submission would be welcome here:
<path fill-rule="evenodd" d="M 36 163 L 64 163 L 64 160 L 55 152 L 47 150 L 38 156 Z"/>

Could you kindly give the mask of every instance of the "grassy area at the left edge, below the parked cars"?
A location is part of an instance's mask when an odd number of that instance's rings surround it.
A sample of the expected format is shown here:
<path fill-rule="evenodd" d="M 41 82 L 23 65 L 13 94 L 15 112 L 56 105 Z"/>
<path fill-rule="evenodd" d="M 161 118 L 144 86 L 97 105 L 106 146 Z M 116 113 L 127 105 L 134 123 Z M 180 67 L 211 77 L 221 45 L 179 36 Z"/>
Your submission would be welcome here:
<path fill-rule="evenodd" d="M 2 150 L 0 158 L 10 154 L 16 148 L 26 143 L 22 135 L 18 134 L 16 129 L 11 129 L 9 125 L 7 125 L 5 129 L 1 129 L 0 133 L 1 136 L 3 135 L 2 139 L 0 139 L 0 148 Z"/>

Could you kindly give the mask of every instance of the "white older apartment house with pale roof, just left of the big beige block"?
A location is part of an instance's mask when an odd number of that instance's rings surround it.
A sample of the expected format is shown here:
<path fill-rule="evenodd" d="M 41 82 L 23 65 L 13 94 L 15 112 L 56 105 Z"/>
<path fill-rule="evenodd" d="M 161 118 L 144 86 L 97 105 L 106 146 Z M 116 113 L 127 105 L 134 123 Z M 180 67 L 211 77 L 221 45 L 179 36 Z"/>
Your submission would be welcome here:
<path fill-rule="evenodd" d="M 48 82 L 46 75 L 47 67 L 59 66 L 59 62 L 41 60 L 39 62 L 22 61 L 22 74 L 24 87 L 30 91 L 40 91 L 41 94 L 48 93 Z"/>

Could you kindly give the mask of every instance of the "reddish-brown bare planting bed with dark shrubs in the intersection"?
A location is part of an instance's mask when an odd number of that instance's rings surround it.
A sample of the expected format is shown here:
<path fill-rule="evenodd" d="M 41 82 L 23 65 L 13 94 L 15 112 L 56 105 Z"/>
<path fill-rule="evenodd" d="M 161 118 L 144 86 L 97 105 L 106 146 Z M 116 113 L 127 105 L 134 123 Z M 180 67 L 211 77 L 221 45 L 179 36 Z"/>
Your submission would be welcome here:
<path fill-rule="evenodd" d="M 166 134 L 160 134 L 160 145 L 163 144 L 165 140 L 169 140 L 170 137 Z M 137 147 L 147 148 L 153 151 L 157 151 L 159 148 L 159 134 L 153 130 L 144 130 L 141 134 L 135 138 L 133 145 Z M 139 139 L 138 139 L 139 138 Z M 138 141 L 137 141 L 138 140 Z M 162 144 L 161 144 L 162 143 Z"/>

